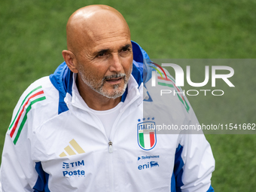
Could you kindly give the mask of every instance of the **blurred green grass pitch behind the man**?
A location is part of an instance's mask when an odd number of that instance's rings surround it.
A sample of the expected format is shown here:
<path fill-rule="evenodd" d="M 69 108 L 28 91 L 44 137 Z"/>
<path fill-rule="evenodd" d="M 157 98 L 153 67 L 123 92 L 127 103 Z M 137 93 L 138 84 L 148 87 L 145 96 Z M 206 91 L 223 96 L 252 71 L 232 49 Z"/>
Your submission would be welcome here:
<path fill-rule="evenodd" d="M 256 57 L 256 1 L 252 0 L 2 0 L 0 152 L 20 95 L 29 84 L 50 75 L 62 62 L 69 16 L 78 8 L 92 4 L 117 8 L 130 26 L 132 39 L 154 59 Z M 252 66 L 248 75 L 243 74 L 250 80 L 243 85 L 243 93 L 237 91 L 236 99 L 221 100 L 220 105 L 227 105 L 227 119 L 239 113 L 241 123 L 256 123 L 254 69 Z M 250 94 L 246 93 L 248 90 Z M 189 100 L 200 121 L 205 118 L 209 122 L 218 121 L 218 117 L 223 117 L 223 108 L 216 105 L 215 98 L 203 102 L 195 97 Z M 246 102 L 239 102 L 241 100 Z M 256 136 L 220 134 L 206 135 L 206 138 L 216 160 L 212 176 L 215 191 L 254 191 Z"/>

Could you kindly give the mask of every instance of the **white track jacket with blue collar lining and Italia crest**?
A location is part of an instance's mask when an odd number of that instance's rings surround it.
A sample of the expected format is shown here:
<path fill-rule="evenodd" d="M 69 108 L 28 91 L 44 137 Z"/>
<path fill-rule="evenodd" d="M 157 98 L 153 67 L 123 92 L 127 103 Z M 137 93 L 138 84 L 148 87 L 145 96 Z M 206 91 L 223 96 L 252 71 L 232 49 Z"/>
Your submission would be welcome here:
<path fill-rule="evenodd" d="M 205 136 L 159 131 L 198 123 L 187 98 L 160 96 L 161 89 L 178 90 L 175 81 L 165 71 L 167 78 L 157 74 L 152 87 L 154 64 L 143 66 L 149 58 L 135 42 L 133 54 L 133 73 L 110 139 L 65 62 L 29 86 L 6 134 L 2 191 L 213 191 L 215 160 Z"/>

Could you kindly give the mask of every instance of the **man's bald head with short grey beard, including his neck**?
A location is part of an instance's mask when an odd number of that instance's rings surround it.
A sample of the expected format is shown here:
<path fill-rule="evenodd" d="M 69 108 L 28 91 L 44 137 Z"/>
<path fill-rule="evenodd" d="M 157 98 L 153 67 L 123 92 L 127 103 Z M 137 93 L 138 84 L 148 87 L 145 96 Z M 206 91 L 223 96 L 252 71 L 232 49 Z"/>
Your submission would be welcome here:
<path fill-rule="evenodd" d="M 133 70 L 133 44 L 123 16 L 106 5 L 78 9 L 67 23 L 67 44 L 62 56 L 77 74 L 87 105 L 96 110 L 117 105 Z"/>

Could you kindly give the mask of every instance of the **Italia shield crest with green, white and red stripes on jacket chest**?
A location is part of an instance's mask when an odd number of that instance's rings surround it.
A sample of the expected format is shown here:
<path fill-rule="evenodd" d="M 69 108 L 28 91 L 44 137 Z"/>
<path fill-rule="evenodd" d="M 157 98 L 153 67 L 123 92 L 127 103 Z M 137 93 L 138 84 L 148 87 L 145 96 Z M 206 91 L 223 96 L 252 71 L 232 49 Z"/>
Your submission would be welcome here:
<path fill-rule="evenodd" d="M 143 150 L 151 150 L 157 143 L 155 125 L 154 121 L 145 121 L 137 125 L 138 144 Z"/>

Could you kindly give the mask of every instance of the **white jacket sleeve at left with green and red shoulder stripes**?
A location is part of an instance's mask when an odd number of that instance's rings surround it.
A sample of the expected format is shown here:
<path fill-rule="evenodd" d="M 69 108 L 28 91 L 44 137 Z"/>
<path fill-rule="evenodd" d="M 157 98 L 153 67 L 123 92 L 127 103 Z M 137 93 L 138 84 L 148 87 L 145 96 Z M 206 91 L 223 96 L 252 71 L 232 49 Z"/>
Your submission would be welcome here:
<path fill-rule="evenodd" d="M 23 93 L 5 136 L 0 179 L 2 192 L 38 191 L 33 189 L 38 181 L 36 164 L 32 160 L 31 138 L 33 111 L 36 102 L 44 100 L 41 87 L 32 87 Z"/>

